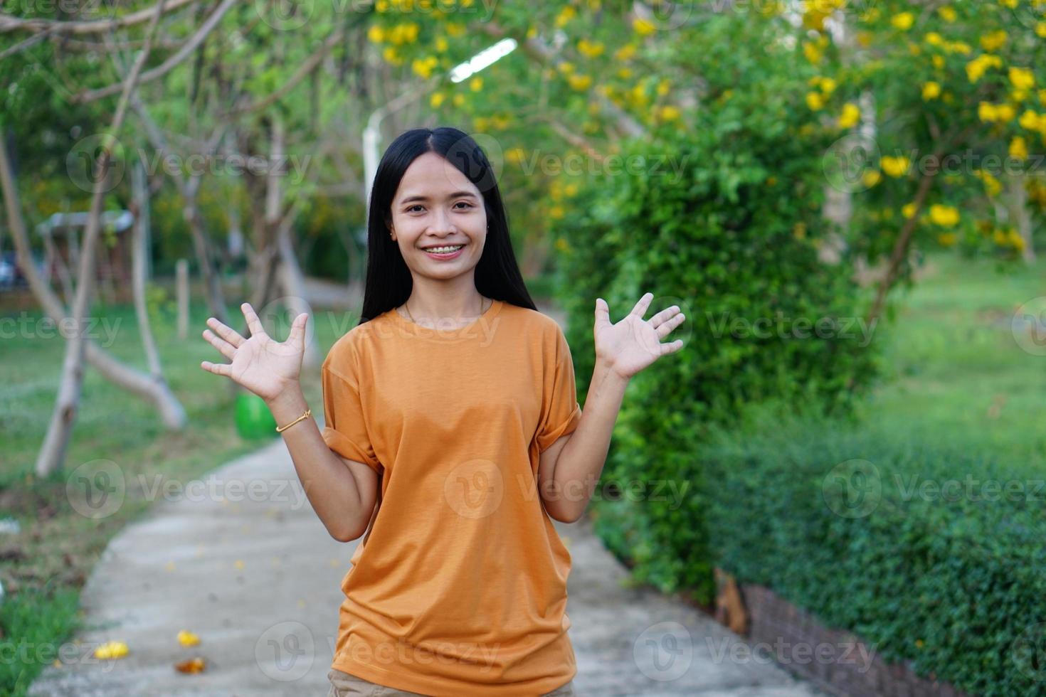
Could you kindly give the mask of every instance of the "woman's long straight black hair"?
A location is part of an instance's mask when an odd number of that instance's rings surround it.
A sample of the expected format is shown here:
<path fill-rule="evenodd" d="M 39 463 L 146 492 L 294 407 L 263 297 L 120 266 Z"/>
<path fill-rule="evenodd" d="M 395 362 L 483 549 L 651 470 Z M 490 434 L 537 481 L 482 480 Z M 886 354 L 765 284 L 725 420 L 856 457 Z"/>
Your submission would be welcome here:
<path fill-rule="evenodd" d="M 374 172 L 367 212 L 367 279 L 359 324 L 399 307 L 410 297 L 414 281 L 400 246 L 389 235 L 388 226 L 400 181 L 410 163 L 426 153 L 435 153 L 457 167 L 483 196 L 490 229 L 483 254 L 476 264 L 476 289 L 494 300 L 538 309 L 513 253 L 508 217 L 497 175 L 486 154 L 471 136 L 457 129 L 412 129 L 392 141 Z"/>

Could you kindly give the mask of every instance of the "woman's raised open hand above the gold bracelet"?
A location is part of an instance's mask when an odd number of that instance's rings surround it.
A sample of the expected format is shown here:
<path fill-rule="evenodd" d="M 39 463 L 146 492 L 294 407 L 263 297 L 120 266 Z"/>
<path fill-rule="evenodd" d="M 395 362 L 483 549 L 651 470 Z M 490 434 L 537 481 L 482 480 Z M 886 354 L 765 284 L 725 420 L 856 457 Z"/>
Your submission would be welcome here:
<path fill-rule="evenodd" d="M 250 303 L 244 303 L 240 309 L 251 330 L 250 339 L 244 339 L 231 327 L 212 317 L 208 318 L 207 326 L 210 329 L 204 329 L 203 338 L 232 363 L 204 361 L 200 367 L 215 375 L 226 375 L 266 401 L 271 401 L 298 381 L 301 359 L 305 353 L 305 323 L 309 322 L 309 313 L 302 312 L 294 318 L 291 334 L 286 342 L 280 343 L 273 341 L 265 332 L 265 327 Z"/>

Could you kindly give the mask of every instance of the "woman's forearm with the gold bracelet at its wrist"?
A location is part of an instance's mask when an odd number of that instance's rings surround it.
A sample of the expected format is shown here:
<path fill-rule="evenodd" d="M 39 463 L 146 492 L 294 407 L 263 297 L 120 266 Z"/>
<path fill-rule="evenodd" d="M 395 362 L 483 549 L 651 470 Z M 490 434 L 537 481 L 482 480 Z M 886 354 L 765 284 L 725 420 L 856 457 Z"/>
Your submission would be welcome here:
<path fill-rule="evenodd" d="M 277 425 L 290 423 L 309 408 L 298 384 L 266 403 Z M 303 419 L 281 435 L 305 495 L 327 532 L 335 539 L 358 537 L 357 531 L 366 527 L 371 511 L 365 509 L 356 478 L 327 446 L 316 420 Z"/>

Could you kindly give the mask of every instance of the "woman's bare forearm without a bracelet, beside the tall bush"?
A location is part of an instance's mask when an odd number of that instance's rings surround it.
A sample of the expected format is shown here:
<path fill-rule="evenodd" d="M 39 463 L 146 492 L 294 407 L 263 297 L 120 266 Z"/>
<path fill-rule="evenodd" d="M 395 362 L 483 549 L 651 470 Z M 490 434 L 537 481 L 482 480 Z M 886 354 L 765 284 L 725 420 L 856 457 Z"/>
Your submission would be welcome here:
<path fill-rule="evenodd" d="M 596 362 L 581 422 L 560 452 L 552 473 L 560 498 L 556 508 L 570 520 L 581 517 L 595 491 L 628 386 L 629 378 Z"/>

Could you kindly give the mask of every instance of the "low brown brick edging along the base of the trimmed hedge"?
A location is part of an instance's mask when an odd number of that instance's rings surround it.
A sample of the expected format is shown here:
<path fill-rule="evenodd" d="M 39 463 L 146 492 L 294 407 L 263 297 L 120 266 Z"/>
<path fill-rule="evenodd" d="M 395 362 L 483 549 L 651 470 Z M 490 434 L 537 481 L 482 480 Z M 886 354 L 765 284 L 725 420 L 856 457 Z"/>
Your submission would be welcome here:
<path fill-rule="evenodd" d="M 949 682 L 915 675 L 910 661 L 886 664 L 856 634 L 821 625 L 766 586 L 743 583 L 738 588 L 748 614 L 748 642 L 773 647 L 779 665 L 828 692 L 845 697 L 970 697 Z M 798 647 L 804 647 L 802 654 Z M 818 647 L 827 659 L 818 659 Z"/>

